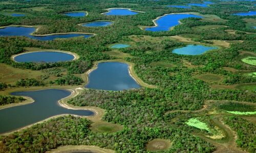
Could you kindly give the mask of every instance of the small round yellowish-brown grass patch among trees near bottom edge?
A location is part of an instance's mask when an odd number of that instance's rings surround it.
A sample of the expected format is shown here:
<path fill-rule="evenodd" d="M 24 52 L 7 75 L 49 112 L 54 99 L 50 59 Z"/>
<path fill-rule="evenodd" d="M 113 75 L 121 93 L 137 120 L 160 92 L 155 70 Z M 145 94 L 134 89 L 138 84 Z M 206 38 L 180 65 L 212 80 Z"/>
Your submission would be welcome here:
<path fill-rule="evenodd" d="M 170 142 L 170 140 L 154 139 L 147 143 L 146 149 L 148 151 L 161 151 L 161 150 L 167 150 L 171 145 L 172 143 Z"/>

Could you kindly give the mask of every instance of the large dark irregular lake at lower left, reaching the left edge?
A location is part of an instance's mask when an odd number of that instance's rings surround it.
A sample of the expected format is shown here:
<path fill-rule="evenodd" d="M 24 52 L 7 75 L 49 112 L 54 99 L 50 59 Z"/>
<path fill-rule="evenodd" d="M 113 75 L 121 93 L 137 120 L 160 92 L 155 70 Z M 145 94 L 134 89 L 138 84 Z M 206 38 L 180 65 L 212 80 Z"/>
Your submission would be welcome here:
<path fill-rule="evenodd" d="M 34 103 L 15 106 L 0 110 L 0 133 L 17 130 L 51 116 L 60 114 L 73 114 L 81 116 L 94 115 L 89 110 L 72 110 L 58 105 L 58 100 L 71 94 L 68 90 L 37 90 L 14 92 L 12 95 L 23 95 L 33 98 Z"/>

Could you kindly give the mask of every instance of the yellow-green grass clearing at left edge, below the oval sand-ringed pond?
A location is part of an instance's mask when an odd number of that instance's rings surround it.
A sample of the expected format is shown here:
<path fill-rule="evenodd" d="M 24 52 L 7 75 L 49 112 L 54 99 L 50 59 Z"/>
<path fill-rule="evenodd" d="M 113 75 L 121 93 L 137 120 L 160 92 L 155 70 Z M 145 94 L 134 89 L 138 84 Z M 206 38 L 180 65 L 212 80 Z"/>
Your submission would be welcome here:
<path fill-rule="evenodd" d="M 0 63 L 0 82 L 14 84 L 20 79 L 40 79 L 41 75 L 46 75 L 46 73 L 39 70 L 14 68 L 10 65 Z"/>

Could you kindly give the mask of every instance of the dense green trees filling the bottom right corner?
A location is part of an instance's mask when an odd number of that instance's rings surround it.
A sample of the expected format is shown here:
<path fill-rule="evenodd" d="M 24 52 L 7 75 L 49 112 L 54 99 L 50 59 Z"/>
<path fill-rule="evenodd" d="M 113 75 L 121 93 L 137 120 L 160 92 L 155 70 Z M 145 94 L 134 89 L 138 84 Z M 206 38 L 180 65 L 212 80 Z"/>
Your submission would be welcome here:
<path fill-rule="evenodd" d="M 238 116 L 224 117 L 224 122 L 228 124 L 232 130 L 237 132 L 238 139 L 236 143 L 239 147 L 248 152 L 255 152 L 255 124 Z"/>

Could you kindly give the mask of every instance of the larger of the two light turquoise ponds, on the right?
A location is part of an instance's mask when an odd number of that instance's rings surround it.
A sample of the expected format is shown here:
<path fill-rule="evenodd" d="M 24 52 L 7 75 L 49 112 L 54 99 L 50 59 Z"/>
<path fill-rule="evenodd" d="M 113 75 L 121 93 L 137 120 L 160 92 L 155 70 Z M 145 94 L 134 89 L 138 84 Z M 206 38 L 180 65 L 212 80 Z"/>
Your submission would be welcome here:
<path fill-rule="evenodd" d="M 203 45 L 187 45 L 185 47 L 176 48 L 172 53 L 180 55 L 200 55 L 211 49 L 217 49 L 218 47 L 203 46 Z"/>

